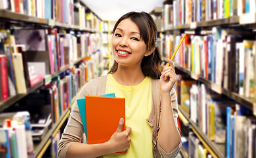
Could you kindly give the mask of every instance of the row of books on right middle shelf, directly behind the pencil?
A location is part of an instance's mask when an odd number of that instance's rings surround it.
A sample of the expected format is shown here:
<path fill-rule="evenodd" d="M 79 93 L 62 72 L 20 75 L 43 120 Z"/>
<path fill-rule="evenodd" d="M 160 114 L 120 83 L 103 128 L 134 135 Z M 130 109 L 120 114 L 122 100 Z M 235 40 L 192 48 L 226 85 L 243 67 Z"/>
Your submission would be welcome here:
<path fill-rule="evenodd" d="M 169 57 L 182 36 L 161 38 L 162 56 Z M 213 28 L 212 34 L 188 34 L 175 63 L 220 88 L 255 98 L 256 36 L 249 30 Z"/>

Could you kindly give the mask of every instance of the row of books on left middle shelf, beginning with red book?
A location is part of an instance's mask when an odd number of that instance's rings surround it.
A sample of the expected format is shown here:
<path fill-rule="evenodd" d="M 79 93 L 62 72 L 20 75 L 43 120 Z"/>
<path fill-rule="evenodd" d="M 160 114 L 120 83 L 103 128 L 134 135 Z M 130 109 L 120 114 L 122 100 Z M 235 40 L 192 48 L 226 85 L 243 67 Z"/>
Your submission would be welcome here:
<path fill-rule="evenodd" d="M 1 101 L 26 93 L 46 76 L 72 66 L 81 57 L 93 56 L 97 58 L 95 65 L 99 65 L 105 55 L 97 51 L 101 47 L 99 34 L 59 34 L 53 28 L 17 29 L 13 34 L 1 30 L 0 35 Z"/>

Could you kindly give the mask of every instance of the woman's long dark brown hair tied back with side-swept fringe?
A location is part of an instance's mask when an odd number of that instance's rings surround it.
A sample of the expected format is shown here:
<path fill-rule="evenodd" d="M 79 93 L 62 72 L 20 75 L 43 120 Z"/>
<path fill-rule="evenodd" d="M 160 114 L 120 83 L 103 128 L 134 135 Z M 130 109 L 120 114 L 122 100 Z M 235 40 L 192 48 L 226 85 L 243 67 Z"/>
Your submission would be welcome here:
<path fill-rule="evenodd" d="M 118 24 L 126 18 L 130 18 L 138 26 L 140 30 L 140 36 L 142 37 L 142 39 L 146 44 L 147 51 L 151 51 L 152 49 L 155 49 L 153 53 L 151 53 L 151 55 L 144 57 L 142 59 L 141 67 L 142 67 L 143 74 L 145 76 L 149 76 L 154 79 L 160 78 L 161 71 L 159 67 L 161 64 L 161 55 L 156 47 L 157 27 L 155 22 L 153 21 L 152 16 L 146 12 L 126 13 L 117 20 L 112 30 L 113 34 Z M 118 63 L 114 61 L 114 65 L 112 66 L 108 74 L 116 72 L 117 68 L 118 68 Z"/>

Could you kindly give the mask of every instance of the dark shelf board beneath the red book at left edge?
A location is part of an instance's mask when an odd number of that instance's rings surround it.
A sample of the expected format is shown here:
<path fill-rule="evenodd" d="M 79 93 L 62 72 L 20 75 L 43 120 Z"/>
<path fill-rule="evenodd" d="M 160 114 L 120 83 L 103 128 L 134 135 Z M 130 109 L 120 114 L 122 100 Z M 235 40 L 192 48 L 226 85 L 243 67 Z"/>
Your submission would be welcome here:
<path fill-rule="evenodd" d="M 1 101 L 0 102 L 0 112 L 3 111 L 4 109 L 7 109 L 8 107 L 10 107 L 11 105 L 13 105 L 14 103 L 16 103 L 17 101 L 21 100 L 23 97 L 26 97 L 26 95 L 28 95 L 29 93 L 33 92 L 34 90 L 40 88 L 41 86 L 44 85 L 44 80 L 41 80 L 40 82 L 38 82 L 38 84 L 36 84 L 35 86 L 33 86 L 32 88 L 28 88 L 27 89 L 27 93 L 24 94 L 17 94 L 13 97 L 9 97 L 7 100 L 5 101 Z"/>

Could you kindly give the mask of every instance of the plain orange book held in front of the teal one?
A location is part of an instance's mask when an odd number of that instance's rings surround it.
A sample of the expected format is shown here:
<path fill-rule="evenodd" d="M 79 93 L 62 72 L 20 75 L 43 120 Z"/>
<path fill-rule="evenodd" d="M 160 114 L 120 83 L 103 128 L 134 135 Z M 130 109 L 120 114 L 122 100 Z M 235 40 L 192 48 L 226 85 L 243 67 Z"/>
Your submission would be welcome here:
<path fill-rule="evenodd" d="M 85 97 L 87 120 L 87 144 L 107 142 L 116 132 L 118 122 L 124 119 L 125 130 L 125 99 L 120 97 Z M 120 153 L 125 153 L 122 151 Z"/>

